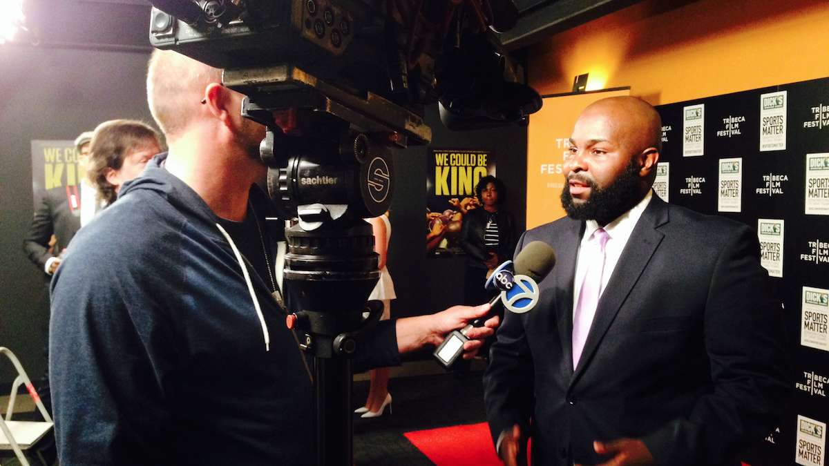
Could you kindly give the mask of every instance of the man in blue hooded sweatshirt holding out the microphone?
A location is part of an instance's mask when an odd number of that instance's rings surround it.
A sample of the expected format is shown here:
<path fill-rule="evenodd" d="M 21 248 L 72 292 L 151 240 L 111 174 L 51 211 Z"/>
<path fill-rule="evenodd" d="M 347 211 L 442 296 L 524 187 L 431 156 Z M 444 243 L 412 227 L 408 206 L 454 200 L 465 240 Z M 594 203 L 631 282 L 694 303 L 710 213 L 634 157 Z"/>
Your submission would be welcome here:
<path fill-rule="evenodd" d="M 272 295 L 284 223 L 265 221 L 264 128 L 242 118 L 242 97 L 221 70 L 153 54 L 148 101 L 169 153 L 75 236 L 52 280 L 61 464 L 315 462 L 308 361 Z M 385 321 L 358 362 L 397 365 L 487 309 Z"/>

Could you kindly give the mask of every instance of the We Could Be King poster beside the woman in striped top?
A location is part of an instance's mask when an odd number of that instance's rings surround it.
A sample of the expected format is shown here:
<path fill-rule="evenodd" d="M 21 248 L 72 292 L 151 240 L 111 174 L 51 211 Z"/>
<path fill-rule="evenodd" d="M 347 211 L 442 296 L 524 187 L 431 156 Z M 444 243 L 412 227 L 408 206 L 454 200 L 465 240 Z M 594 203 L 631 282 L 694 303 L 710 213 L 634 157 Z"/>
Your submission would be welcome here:
<path fill-rule="evenodd" d="M 495 158 L 483 150 L 431 149 L 427 164 L 426 253 L 461 255 L 463 216 L 480 206 L 475 187 L 482 177 L 495 176 Z"/>

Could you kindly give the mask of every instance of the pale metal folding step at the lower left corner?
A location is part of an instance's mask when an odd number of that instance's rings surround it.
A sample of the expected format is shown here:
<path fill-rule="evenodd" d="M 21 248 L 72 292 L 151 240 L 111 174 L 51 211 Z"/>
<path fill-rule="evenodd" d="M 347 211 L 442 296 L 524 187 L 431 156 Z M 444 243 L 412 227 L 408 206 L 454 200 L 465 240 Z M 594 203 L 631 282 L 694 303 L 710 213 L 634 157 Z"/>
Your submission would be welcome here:
<path fill-rule="evenodd" d="M 29 376 L 27 376 L 26 371 L 23 370 L 23 366 L 20 365 L 20 361 L 17 360 L 14 353 L 7 347 L 0 347 L 0 352 L 5 354 L 14 365 L 14 368 L 17 369 L 17 378 L 15 378 L 12 383 L 12 393 L 9 396 L 6 417 L 3 419 L 3 417 L 0 416 L 0 450 L 13 450 L 20 464 L 22 464 L 22 466 L 29 466 L 29 460 L 24 452 L 32 449 L 38 441 L 43 439 L 43 437 L 51 431 L 54 423 L 52 422 L 51 416 L 46 411 L 46 407 L 43 405 L 41 397 L 37 395 L 35 387 L 32 386 L 32 381 L 29 380 Z M 32 400 L 34 400 L 37 410 L 39 410 L 43 416 L 43 421 L 12 420 L 14 401 L 17 398 L 17 389 L 20 388 L 21 385 L 26 386 L 26 389 L 29 391 L 29 396 L 32 396 Z M 41 452 L 36 449 L 35 451 L 36 459 L 39 459 L 41 464 L 46 465 L 46 459 L 43 457 Z"/>

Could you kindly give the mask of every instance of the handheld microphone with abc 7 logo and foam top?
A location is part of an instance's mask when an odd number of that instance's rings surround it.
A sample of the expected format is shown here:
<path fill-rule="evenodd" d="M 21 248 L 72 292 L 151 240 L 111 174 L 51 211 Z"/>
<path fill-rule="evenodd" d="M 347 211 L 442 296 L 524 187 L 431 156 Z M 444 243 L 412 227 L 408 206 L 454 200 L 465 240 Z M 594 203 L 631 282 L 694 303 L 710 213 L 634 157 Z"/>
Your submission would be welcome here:
<path fill-rule="evenodd" d="M 500 301 L 512 313 L 526 313 L 536 307 L 539 299 L 538 284 L 553 269 L 555 251 L 542 241 L 532 241 L 516 257 L 517 274 L 512 273 L 512 265 L 510 260 L 498 265 L 487 279 L 484 288 L 501 291 L 490 299 L 489 304 L 492 308 Z M 492 315 L 492 308 L 482 318 L 477 318 L 466 327 L 449 333 L 444 342 L 434 350 L 435 359 L 446 368 L 452 366 L 463 354 L 463 344 L 469 341 L 469 330 L 486 322 Z"/>

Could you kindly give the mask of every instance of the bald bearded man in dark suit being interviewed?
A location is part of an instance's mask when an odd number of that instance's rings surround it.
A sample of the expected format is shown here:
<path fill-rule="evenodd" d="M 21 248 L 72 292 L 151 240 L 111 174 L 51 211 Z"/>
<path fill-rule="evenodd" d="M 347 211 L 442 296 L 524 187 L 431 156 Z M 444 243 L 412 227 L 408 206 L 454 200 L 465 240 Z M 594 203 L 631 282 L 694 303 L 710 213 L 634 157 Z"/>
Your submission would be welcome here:
<path fill-rule="evenodd" d="M 579 116 L 567 217 L 521 236 L 558 255 L 507 313 L 484 377 L 505 464 L 739 465 L 789 392 L 782 310 L 757 236 L 652 192 L 660 118 L 616 97 Z"/>

